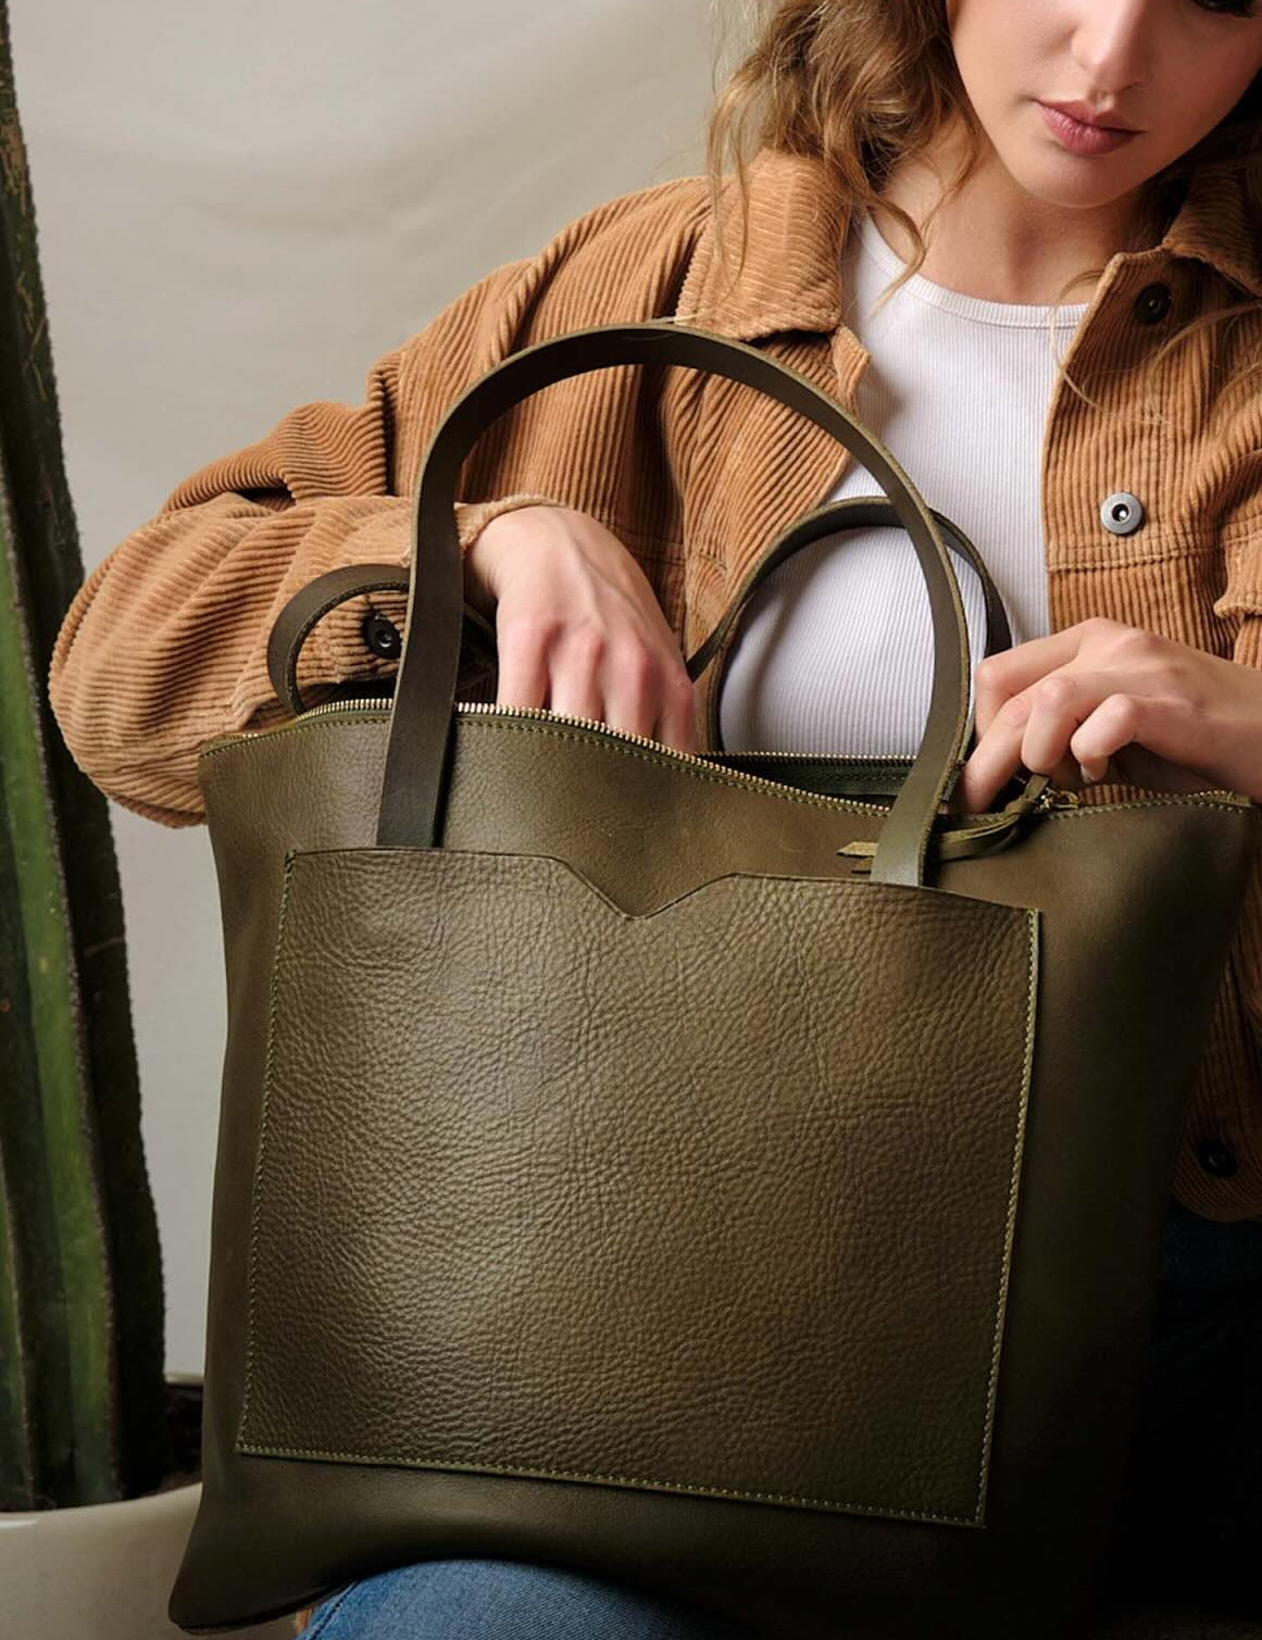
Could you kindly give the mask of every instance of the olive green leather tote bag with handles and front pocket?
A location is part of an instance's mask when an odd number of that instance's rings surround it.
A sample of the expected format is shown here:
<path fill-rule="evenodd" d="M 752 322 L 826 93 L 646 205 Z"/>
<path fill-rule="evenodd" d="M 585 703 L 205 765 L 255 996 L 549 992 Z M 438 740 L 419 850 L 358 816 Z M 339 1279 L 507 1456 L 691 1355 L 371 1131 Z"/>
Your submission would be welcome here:
<path fill-rule="evenodd" d="M 888 500 L 796 525 L 688 666 L 784 556 L 898 523 L 935 640 L 914 761 L 684 756 L 455 700 L 469 449 L 630 364 L 771 394 L 873 474 Z M 947 538 L 755 348 L 563 336 L 430 444 L 392 705 L 205 751 L 230 1020 L 181 1627 L 473 1555 L 786 1640 L 1070 1632 L 1259 817 L 1045 779 L 945 812 L 972 735 Z M 282 690 L 371 581 L 287 612 Z"/>

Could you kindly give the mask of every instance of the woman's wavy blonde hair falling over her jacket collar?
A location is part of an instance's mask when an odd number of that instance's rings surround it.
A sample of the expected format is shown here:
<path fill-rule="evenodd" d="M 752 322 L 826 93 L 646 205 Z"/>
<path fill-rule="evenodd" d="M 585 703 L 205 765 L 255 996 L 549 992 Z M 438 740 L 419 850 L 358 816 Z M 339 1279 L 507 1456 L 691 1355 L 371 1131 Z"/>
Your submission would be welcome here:
<path fill-rule="evenodd" d="M 924 153 L 944 125 L 958 118 L 965 134 L 963 162 L 926 218 L 929 230 L 947 198 L 958 194 L 985 153 L 976 118 L 947 28 L 945 0 L 711 0 L 722 41 L 732 18 L 748 43 L 737 67 L 716 92 L 707 130 L 711 205 L 719 256 L 730 277 L 738 276 L 748 246 L 747 164 L 760 148 L 804 154 L 824 162 L 829 205 L 837 213 L 870 210 L 880 202 L 906 231 L 912 256 L 881 294 L 883 307 L 924 264 L 926 241 L 901 208 L 881 198 L 893 169 Z M 725 164 L 734 164 L 742 203 L 740 257 L 732 269 L 719 210 Z M 1262 221 L 1262 74 L 1195 148 L 1144 185 L 1132 241 L 1119 249 L 1155 244 L 1178 212 L 1193 175 L 1241 175 Z M 1049 310 L 1049 344 L 1057 371 L 1096 410 L 1103 410 L 1065 371 L 1055 346 L 1055 318 L 1078 285 L 1095 285 L 1103 267 L 1083 269 L 1057 292 Z M 1147 362 L 1149 372 L 1180 343 L 1209 325 L 1239 323 L 1262 312 L 1249 298 L 1221 307 L 1185 325 Z M 1262 369 L 1262 361 L 1239 371 L 1239 385 Z"/>

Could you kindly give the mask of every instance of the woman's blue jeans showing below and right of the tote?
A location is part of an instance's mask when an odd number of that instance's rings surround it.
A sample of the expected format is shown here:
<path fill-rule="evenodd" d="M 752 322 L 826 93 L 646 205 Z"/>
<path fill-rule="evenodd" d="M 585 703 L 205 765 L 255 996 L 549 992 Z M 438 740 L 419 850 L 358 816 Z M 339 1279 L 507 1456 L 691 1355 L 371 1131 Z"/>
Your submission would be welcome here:
<path fill-rule="evenodd" d="M 1262 1220 L 1172 1202 L 1131 1469 L 1118 1599 L 1262 1615 Z M 753 1640 L 755 1632 L 550 1566 L 422 1561 L 351 1584 L 307 1640 Z"/>

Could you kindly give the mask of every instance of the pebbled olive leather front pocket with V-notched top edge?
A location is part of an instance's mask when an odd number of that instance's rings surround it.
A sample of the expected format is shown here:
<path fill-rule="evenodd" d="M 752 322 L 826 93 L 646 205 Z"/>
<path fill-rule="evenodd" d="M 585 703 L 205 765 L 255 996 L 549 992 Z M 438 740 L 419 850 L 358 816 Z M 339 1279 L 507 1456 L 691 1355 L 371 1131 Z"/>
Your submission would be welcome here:
<path fill-rule="evenodd" d="M 297 854 L 238 1450 L 980 1525 L 1037 913 Z"/>

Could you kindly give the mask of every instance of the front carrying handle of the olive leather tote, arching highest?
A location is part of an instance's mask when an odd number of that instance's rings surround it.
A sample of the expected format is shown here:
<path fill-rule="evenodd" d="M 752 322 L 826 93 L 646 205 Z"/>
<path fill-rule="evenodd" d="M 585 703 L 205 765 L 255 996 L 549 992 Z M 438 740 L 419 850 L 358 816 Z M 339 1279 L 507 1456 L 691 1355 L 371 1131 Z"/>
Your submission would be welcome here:
<path fill-rule="evenodd" d="M 474 382 L 433 435 L 415 485 L 412 581 L 377 846 L 441 846 L 464 602 L 455 513 L 464 461 L 487 426 L 522 399 L 588 371 L 630 364 L 709 371 L 768 394 L 832 433 L 889 497 L 929 589 L 934 682 L 921 751 L 881 828 L 871 877 L 921 887 L 934 820 L 968 738 L 968 628 L 942 533 L 893 454 L 804 376 L 745 343 L 670 320 L 602 325 L 525 348 Z"/>

